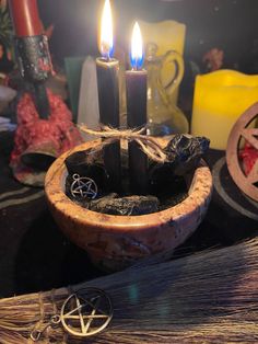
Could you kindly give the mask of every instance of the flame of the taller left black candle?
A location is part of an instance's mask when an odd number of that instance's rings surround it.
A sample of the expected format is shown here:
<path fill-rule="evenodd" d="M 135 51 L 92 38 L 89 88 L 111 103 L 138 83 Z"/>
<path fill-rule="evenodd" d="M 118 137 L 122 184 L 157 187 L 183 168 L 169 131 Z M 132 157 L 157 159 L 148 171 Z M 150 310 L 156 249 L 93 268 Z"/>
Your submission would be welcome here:
<path fill-rule="evenodd" d="M 103 57 L 109 59 L 113 55 L 113 20 L 112 20 L 112 7 L 109 0 L 105 0 L 103 13 L 102 13 L 102 26 L 101 26 L 101 54 Z"/>

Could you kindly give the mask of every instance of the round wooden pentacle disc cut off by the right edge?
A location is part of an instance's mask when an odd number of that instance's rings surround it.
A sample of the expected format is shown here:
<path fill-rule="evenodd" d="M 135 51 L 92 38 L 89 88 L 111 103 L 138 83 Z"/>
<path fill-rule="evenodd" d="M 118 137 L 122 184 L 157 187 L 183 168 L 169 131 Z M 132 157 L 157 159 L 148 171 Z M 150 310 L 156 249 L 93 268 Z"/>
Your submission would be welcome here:
<path fill-rule="evenodd" d="M 258 160 L 250 173 L 246 175 L 239 161 L 239 145 L 242 138 L 258 150 L 258 128 L 249 128 L 249 124 L 258 117 L 258 103 L 250 106 L 235 123 L 228 137 L 226 163 L 236 185 L 250 198 L 258 202 Z"/>

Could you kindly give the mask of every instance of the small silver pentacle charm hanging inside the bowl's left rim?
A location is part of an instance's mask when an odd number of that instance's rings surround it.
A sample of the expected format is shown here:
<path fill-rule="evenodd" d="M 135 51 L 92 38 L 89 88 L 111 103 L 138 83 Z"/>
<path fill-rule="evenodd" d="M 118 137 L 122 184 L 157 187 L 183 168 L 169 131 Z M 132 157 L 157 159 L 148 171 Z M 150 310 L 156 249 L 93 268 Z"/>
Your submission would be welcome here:
<path fill-rule="evenodd" d="M 80 176 L 79 174 L 73 174 L 72 177 L 71 194 L 74 198 L 96 198 L 97 185 L 91 177 Z"/>

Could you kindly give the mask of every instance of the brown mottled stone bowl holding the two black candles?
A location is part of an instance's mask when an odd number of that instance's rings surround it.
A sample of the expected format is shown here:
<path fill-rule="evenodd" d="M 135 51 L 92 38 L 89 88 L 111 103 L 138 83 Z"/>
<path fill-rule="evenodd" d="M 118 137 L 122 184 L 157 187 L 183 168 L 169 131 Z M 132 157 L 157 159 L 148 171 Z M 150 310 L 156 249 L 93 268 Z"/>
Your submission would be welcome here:
<path fill-rule="evenodd" d="M 84 209 L 64 194 L 68 175 L 64 159 L 97 141 L 78 146 L 59 157 L 47 172 L 46 196 L 52 216 L 72 242 L 87 251 L 103 270 L 118 271 L 140 259 L 171 252 L 181 244 L 202 221 L 212 192 L 212 176 L 203 161 L 189 184 L 189 196 L 180 204 L 154 214 L 114 216 Z"/>

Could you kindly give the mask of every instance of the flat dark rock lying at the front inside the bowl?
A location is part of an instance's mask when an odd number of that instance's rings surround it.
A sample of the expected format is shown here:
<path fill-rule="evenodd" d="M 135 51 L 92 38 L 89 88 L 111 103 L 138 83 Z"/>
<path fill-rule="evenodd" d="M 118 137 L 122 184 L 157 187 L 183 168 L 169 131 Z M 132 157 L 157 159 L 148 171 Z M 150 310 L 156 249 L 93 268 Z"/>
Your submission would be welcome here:
<path fill-rule="evenodd" d="M 109 215 L 144 215 L 159 211 L 160 202 L 154 196 L 103 197 L 92 200 L 90 209 Z"/>

